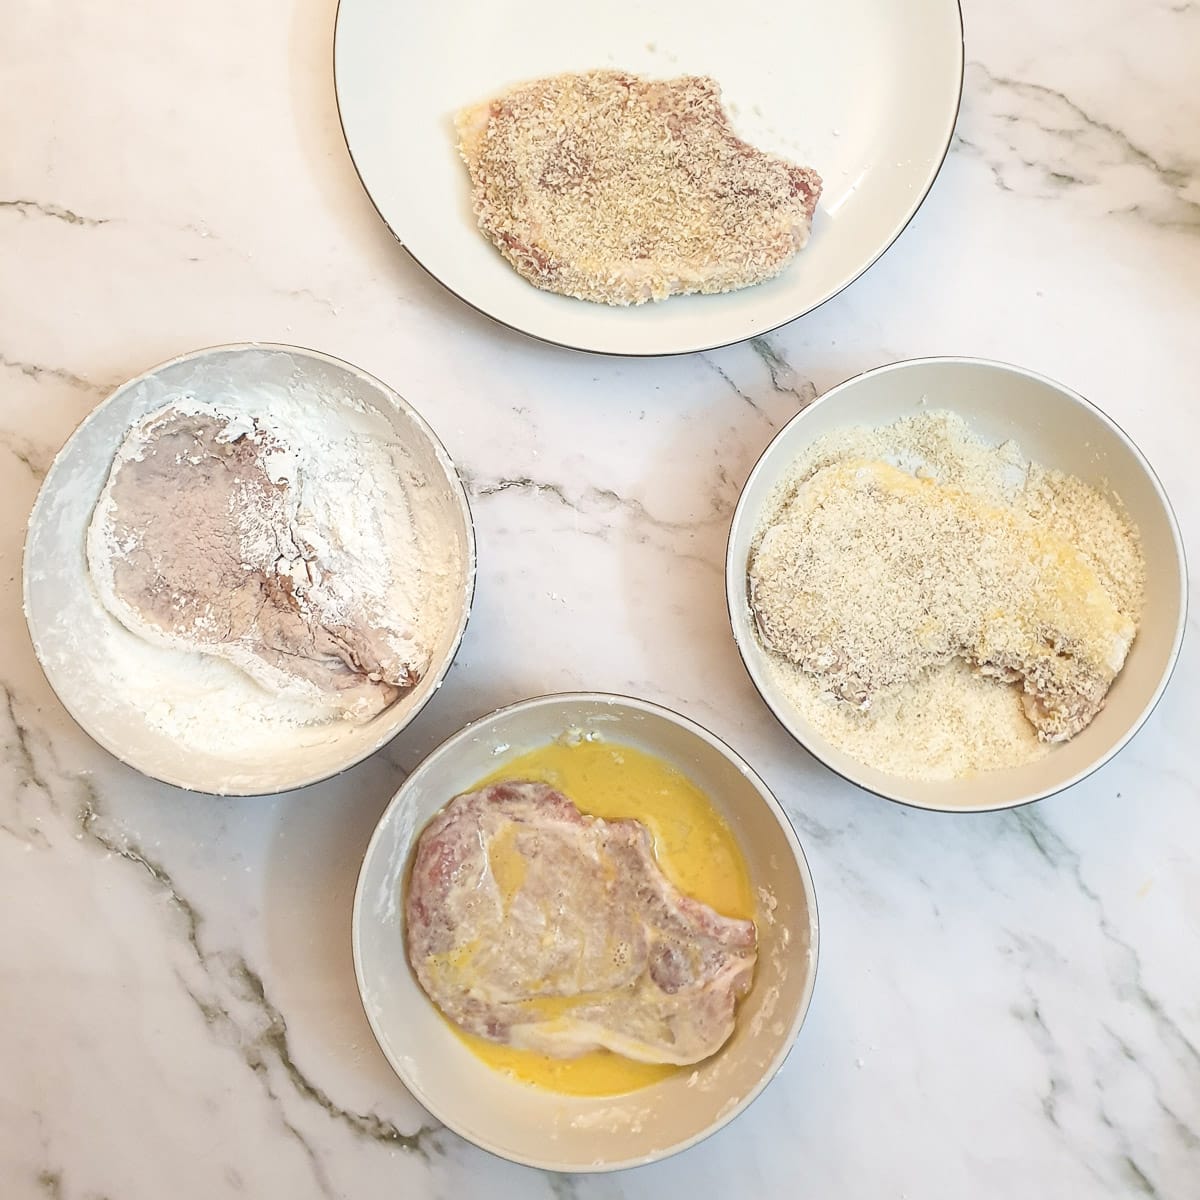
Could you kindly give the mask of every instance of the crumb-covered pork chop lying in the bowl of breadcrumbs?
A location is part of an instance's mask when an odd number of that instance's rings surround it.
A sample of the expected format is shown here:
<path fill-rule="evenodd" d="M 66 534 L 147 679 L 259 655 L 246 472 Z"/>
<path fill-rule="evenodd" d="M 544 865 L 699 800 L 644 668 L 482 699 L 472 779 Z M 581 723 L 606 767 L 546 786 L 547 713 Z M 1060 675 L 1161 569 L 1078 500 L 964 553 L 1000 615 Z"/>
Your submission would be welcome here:
<path fill-rule="evenodd" d="M 802 484 L 749 575 L 766 644 L 836 698 L 866 709 L 961 658 L 1020 682 L 1045 742 L 1091 722 L 1136 631 L 1063 539 L 883 462 L 847 460 Z"/>

